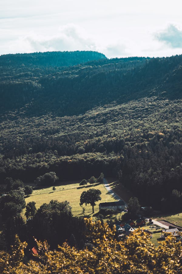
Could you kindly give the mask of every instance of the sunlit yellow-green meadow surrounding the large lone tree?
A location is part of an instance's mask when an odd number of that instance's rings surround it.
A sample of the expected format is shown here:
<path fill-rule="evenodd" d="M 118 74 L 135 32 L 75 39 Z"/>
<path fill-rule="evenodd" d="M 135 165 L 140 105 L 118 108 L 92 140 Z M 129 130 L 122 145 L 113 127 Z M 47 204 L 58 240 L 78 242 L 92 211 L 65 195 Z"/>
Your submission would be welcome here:
<path fill-rule="evenodd" d="M 86 187 L 80 187 L 79 182 L 80 181 L 62 182 L 61 185 L 56 186 L 55 191 L 52 190 L 52 187 L 34 190 L 32 195 L 26 198 L 25 201 L 26 203 L 34 201 L 36 202 L 36 208 L 39 208 L 43 203 L 49 203 L 50 200 L 58 200 L 59 202 L 67 200 L 72 206 L 72 213 L 74 216 L 82 215 L 82 208 L 79 206 L 80 195 L 89 188 L 99 189 L 102 193 L 102 200 L 96 202 L 96 206 L 94 207 L 95 213 L 98 213 L 99 211 L 100 202 L 116 201 L 112 195 L 108 194 L 108 191 L 103 184 L 87 184 Z M 83 204 L 83 207 L 85 207 L 85 215 L 93 216 L 92 206 L 85 206 L 85 204 Z"/>

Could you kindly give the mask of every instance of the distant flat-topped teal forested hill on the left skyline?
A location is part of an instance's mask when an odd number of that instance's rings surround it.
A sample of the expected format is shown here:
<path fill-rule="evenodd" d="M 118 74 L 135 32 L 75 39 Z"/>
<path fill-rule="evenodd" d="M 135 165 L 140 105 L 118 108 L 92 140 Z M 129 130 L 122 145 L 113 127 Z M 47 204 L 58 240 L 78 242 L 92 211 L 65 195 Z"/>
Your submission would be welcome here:
<path fill-rule="evenodd" d="M 18 53 L 1 55 L 0 66 L 67 67 L 98 59 L 106 59 L 106 56 L 96 51 L 47 51 Z"/>

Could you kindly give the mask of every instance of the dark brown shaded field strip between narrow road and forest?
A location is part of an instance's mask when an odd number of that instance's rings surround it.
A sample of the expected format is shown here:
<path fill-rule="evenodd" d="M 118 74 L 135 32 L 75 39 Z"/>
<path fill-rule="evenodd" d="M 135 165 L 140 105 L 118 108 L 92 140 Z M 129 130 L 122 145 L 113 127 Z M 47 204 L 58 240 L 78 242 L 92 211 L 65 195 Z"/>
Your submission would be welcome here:
<path fill-rule="evenodd" d="M 132 193 L 126 189 L 120 182 L 116 181 L 116 178 L 107 178 L 110 188 L 119 195 L 126 203 L 133 197 Z"/>

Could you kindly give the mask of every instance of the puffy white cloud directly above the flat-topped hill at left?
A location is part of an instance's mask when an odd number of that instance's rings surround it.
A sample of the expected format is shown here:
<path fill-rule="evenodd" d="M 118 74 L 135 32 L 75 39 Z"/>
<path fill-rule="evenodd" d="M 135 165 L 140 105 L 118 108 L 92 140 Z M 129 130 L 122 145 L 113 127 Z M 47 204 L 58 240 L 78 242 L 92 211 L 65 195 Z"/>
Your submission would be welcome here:
<path fill-rule="evenodd" d="M 78 26 L 68 24 L 60 27 L 56 35 L 20 36 L 8 43 L 10 53 L 36 51 L 75 51 L 96 50 L 95 43 L 84 34 Z M 7 49 L 6 49 L 7 50 Z"/>

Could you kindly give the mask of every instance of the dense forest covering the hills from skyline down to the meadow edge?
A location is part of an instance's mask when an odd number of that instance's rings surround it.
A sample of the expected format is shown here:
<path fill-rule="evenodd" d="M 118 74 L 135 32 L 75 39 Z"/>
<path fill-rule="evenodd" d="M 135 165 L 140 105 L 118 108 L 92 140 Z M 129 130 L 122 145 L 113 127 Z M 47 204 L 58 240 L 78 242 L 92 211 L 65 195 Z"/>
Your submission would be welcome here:
<path fill-rule="evenodd" d="M 182 192 L 182 55 L 8 54 L 0 72 L 2 184 L 103 172 L 142 205 Z"/>

